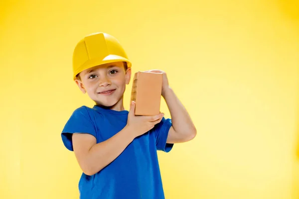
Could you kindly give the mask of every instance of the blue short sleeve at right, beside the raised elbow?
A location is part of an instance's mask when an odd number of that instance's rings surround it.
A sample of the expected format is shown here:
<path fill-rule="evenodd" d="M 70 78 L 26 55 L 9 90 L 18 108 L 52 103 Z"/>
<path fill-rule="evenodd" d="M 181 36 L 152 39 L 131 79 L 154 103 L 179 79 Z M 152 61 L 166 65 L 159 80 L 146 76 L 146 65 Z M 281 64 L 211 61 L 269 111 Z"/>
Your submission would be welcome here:
<path fill-rule="evenodd" d="M 155 134 L 157 150 L 169 152 L 172 149 L 173 144 L 166 143 L 168 132 L 171 126 L 171 119 L 165 119 L 164 117 L 158 124 L 154 126 L 153 131 Z"/>

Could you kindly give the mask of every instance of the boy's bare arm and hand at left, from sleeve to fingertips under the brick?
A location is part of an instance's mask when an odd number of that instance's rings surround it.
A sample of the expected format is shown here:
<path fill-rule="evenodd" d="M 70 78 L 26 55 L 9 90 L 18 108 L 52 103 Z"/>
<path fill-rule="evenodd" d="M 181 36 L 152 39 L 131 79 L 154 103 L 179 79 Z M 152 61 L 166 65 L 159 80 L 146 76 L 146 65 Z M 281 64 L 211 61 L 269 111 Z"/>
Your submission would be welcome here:
<path fill-rule="evenodd" d="M 92 134 L 72 134 L 73 151 L 86 175 L 92 176 L 101 171 L 115 160 L 137 136 L 148 132 L 161 121 L 163 114 L 135 116 L 135 105 L 132 103 L 130 107 L 127 125 L 108 140 L 97 144 Z"/>

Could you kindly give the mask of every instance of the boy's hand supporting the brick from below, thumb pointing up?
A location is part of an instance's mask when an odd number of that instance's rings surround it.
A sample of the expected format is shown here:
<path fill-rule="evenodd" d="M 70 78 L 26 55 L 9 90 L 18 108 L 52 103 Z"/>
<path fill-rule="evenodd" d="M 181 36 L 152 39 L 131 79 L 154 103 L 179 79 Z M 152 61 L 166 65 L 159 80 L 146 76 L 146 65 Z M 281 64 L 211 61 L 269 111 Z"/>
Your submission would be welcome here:
<path fill-rule="evenodd" d="M 135 115 L 135 106 L 135 101 L 132 101 L 127 122 L 127 127 L 132 130 L 134 138 L 148 132 L 155 124 L 159 123 L 164 116 L 163 113 L 151 116 Z"/>

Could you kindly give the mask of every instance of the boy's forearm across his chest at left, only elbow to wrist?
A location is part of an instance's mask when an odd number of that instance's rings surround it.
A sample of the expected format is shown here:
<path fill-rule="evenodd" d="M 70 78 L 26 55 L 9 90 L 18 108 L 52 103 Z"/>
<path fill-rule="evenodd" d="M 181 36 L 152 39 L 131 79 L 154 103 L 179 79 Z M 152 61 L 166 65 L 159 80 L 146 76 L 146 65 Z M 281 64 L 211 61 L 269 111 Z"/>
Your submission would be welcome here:
<path fill-rule="evenodd" d="M 134 136 L 126 126 L 110 139 L 95 144 L 88 152 L 85 164 L 88 165 L 88 174 L 94 175 L 113 160 L 115 160 L 125 148 L 133 141 Z"/>

